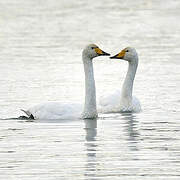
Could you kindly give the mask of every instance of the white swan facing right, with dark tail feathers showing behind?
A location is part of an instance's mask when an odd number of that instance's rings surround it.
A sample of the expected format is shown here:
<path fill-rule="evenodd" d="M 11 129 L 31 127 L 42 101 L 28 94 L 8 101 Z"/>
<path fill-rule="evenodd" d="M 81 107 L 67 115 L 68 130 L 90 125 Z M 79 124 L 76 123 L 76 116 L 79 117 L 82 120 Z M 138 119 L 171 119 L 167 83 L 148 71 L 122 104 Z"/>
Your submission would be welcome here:
<path fill-rule="evenodd" d="M 29 118 L 33 119 L 93 119 L 97 117 L 96 88 L 92 59 L 97 56 L 109 56 L 95 44 L 88 45 L 82 52 L 82 60 L 85 72 L 85 104 L 65 104 L 49 102 L 36 105 L 28 110 L 22 110 Z"/>

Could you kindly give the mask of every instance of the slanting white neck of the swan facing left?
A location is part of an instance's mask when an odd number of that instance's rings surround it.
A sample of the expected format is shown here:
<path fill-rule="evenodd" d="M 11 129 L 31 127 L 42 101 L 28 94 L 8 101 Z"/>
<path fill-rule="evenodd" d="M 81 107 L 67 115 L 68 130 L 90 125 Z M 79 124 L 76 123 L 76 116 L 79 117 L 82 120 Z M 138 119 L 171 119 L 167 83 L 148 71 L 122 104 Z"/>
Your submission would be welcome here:
<path fill-rule="evenodd" d="M 137 67 L 138 67 L 138 59 L 136 63 L 129 62 L 128 71 L 122 87 L 121 101 L 127 103 L 132 102 L 133 82 Z"/>

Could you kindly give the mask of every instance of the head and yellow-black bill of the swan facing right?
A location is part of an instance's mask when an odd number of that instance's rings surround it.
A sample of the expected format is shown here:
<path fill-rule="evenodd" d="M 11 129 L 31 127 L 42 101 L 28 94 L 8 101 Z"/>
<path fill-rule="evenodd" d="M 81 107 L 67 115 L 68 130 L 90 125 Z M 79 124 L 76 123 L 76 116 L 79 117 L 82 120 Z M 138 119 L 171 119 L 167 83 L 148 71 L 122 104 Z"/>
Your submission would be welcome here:
<path fill-rule="evenodd" d="M 83 56 L 93 59 L 98 56 L 110 56 L 109 53 L 104 52 L 95 44 L 89 44 L 83 50 Z"/>

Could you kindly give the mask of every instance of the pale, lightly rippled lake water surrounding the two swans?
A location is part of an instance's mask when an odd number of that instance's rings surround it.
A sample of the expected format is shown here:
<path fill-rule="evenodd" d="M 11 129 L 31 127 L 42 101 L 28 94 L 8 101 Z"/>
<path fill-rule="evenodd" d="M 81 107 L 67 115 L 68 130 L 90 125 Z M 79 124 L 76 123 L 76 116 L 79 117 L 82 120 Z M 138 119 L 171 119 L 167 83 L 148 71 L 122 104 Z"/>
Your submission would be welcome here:
<path fill-rule="evenodd" d="M 0 1 L 0 179 L 180 179 L 179 0 Z M 81 52 L 139 53 L 139 114 L 5 120 L 46 101 L 82 102 Z M 127 63 L 94 60 L 97 100 Z"/>

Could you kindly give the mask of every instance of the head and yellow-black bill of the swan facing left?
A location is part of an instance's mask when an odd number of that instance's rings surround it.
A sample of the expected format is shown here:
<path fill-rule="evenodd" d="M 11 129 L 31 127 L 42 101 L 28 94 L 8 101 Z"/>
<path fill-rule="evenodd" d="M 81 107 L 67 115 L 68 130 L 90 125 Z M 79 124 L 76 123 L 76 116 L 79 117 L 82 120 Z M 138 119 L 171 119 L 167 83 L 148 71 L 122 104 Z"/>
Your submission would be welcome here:
<path fill-rule="evenodd" d="M 136 52 L 136 49 L 133 47 L 126 47 L 120 53 L 116 54 L 115 56 L 111 56 L 110 58 L 111 59 L 123 59 L 123 60 L 131 62 L 131 63 L 138 62 L 138 54 Z"/>

